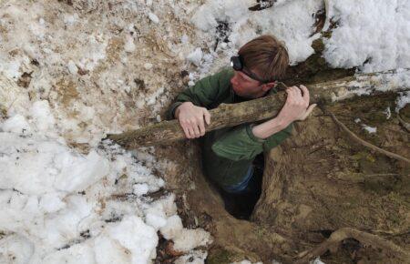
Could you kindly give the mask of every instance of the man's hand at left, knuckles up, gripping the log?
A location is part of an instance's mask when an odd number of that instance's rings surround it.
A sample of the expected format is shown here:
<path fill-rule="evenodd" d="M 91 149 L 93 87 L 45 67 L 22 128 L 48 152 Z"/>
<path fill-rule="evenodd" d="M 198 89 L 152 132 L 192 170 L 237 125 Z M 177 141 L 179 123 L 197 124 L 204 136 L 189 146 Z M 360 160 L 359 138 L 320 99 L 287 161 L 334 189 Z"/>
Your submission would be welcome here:
<path fill-rule="evenodd" d="M 205 135 L 205 123 L 210 125 L 210 112 L 205 107 L 196 107 L 191 102 L 181 104 L 175 110 L 180 127 L 187 138 L 202 137 Z"/>

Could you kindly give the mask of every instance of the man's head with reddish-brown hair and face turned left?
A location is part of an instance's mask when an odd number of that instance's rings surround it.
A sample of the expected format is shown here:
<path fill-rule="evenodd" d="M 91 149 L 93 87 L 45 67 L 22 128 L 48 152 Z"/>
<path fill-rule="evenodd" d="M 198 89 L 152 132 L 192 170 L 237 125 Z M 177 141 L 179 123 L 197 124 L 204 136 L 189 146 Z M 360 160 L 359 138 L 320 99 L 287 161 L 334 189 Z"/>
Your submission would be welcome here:
<path fill-rule="evenodd" d="M 259 36 L 241 47 L 238 52 L 242 69 L 235 71 L 231 85 L 239 96 L 263 96 L 282 78 L 289 65 L 283 43 L 273 36 Z"/>

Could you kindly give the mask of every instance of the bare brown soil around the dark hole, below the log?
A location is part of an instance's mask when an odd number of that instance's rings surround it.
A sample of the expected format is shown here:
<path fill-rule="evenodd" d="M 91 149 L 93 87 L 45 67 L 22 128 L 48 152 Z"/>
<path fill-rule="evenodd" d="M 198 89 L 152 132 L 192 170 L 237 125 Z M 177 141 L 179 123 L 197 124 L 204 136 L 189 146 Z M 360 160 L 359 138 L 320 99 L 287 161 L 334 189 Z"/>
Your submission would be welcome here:
<path fill-rule="evenodd" d="M 388 107 L 391 117 L 386 115 Z M 328 109 L 364 140 L 410 157 L 409 134 L 394 113 L 394 94 L 359 97 Z M 408 122 L 410 107 L 400 115 Z M 366 126 L 376 127 L 376 133 L 367 132 Z M 164 178 L 179 196 L 184 224 L 205 228 L 214 238 L 207 263 L 293 263 L 340 228 L 372 233 L 408 252 L 408 164 L 355 143 L 320 109 L 295 130 L 281 147 L 266 154 L 261 198 L 249 221 L 233 218 L 224 209 L 220 194 L 201 173 L 195 141 L 157 147 L 158 156 L 169 160 Z M 395 252 L 355 239 L 344 239 L 321 259 L 404 263 Z"/>

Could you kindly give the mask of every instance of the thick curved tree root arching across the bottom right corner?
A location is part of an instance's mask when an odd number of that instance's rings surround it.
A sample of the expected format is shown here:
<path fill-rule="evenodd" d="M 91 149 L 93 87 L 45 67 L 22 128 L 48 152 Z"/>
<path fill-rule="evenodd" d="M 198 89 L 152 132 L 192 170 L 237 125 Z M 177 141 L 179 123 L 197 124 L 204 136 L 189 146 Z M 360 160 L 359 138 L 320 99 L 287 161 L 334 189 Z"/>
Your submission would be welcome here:
<path fill-rule="evenodd" d="M 315 249 L 306 253 L 302 259 L 295 261 L 296 264 L 308 263 L 310 259 L 323 255 L 327 250 L 331 252 L 337 251 L 340 243 L 344 239 L 356 239 L 366 246 L 373 246 L 378 249 L 384 249 L 387 254 L 402 260 L 402 263 L 409 263 L 410 253 L 405 249 L 395 245 L 395 243 L 382 239 L 376 235 L 366 233 L 354 228 L 340 228 L 332 233 L 329 239 L 325 240 Z"/>

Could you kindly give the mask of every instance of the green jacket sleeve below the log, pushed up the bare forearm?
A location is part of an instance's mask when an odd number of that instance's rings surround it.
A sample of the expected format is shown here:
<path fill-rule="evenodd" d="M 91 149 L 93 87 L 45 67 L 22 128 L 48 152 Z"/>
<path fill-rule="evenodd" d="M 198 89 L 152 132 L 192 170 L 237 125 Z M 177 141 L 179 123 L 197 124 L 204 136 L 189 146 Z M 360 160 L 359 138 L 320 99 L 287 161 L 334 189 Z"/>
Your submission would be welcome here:
<path fill-rule="evenodd" d="M 213 152 L 234 161 L 252 159 L 262 151 L 277 147 L 292 134 L 291 124 L 271 137 L 261 139 L 253 135 L 251 127 L 251 125 L 242 125 L 227 131 L 212 145 Z"/>

